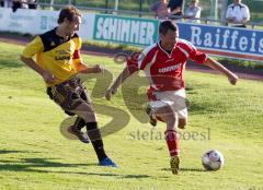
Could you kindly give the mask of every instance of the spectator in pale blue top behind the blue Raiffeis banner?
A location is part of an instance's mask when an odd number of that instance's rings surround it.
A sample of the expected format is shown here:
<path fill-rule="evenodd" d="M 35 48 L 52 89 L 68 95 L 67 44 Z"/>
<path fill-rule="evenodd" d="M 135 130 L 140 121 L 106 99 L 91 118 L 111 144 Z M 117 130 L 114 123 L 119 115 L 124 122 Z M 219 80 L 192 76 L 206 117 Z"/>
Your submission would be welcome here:
<path fill-rule="evenodd" d="M 199 23 L 199 20 L 194 20 L 201 17 L 201 7 L 198 7 L 198 2 L 199 0 L 192 0 L 188 8 L 185 10 L 183 17 L 190 19 L 188 22 Z"/>

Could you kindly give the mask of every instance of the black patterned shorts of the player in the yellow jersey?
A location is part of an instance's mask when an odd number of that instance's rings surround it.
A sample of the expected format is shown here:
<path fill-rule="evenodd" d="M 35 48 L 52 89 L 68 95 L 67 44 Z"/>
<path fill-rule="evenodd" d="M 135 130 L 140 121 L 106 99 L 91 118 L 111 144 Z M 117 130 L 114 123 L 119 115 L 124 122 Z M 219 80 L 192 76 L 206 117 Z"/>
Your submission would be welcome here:
<path fill-rule="evenodd" d="M 68 115 L 73 115 L 70 110 L 75 110 L 80 104 L 90 104 L 87 88 L 77 76 L 55 86 L 47 87 L 46 93 Z"/>

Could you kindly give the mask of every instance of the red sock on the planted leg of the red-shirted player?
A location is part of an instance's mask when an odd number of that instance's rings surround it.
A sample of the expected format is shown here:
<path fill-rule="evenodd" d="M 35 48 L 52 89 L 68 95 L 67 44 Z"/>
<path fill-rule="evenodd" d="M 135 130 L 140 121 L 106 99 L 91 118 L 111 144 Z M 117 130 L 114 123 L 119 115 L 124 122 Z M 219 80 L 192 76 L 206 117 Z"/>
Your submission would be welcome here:
<path fill-rule="evenodd" d="M 170 152 L 170 156 L 174 157 L 174 156 L 179 156 L 179 135 L 176 133 L 176 131 L 174 130 L 167 130 L 164 132 L 165 134 L 165 141 L 168 144 L 168 150 Z"/>

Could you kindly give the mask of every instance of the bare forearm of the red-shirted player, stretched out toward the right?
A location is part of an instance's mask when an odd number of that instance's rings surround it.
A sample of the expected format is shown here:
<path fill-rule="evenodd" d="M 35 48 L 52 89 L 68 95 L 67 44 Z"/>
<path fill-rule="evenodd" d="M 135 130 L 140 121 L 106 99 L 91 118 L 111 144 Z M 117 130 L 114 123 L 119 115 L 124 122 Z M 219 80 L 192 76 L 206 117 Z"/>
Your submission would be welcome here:
<path fill-rule="evenodd" d="M 205 61 L 205 64 L 208 66 L 209 68 L 225 74 L 228 78 L 230 84 L 236 85 L 236 83 L 238 81 L 238 76 L 235 73 L 232 73 L 231 71 L 229 71 L 227 68 L 221 66 L 219 62 L 217 62 L 216 60 L 208 57 Z"/>

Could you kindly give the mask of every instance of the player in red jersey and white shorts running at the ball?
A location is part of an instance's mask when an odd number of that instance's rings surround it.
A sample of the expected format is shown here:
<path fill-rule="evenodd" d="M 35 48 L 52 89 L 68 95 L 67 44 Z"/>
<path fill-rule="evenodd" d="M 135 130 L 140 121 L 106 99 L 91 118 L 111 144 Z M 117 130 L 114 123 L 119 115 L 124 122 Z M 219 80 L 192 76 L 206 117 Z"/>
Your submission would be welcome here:
<path fill-rule="evenodd" d="M 167 123 L 164 134 L 171 156 L 171 169 L 173 174 L 178 174 L 180 164 L 178 128 L 184 129 L 187 123 L 184 82 L 186 61 L 191 59 L 221 72 L 232 85 L 237 83 L 238 76 L 198 51 L 190 41 L 180 39 L 178 26 L 172 21 L 163 21 L 159 26 L 159 34 L 158 43 L 146 48 L 138 57 L 127 59 L 127 67 L 106 91 L 105 97 L 110 100 L 127 78 L 136 71 L 145 71 L 149 80 L 148 114 L 153 124 L 156 118 Z"/>

